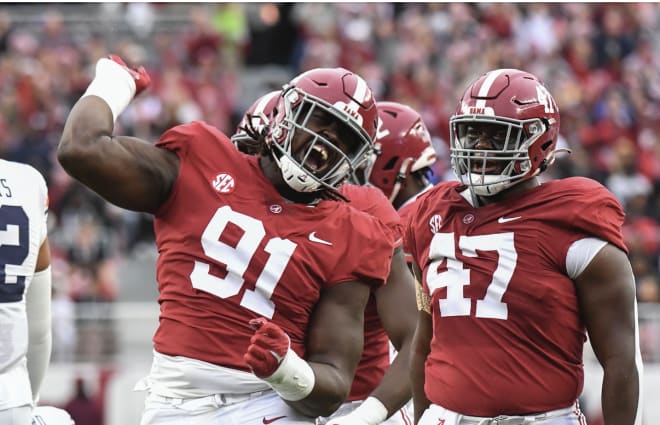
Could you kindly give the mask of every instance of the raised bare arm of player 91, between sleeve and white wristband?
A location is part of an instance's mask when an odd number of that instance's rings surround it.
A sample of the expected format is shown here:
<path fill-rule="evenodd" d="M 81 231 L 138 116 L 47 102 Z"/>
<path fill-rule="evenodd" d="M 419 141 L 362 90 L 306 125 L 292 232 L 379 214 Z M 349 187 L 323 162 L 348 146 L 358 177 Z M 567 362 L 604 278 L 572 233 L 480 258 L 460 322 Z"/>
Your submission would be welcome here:
<path fill-rule="evenodd" d="M 96 96 L 74 105 L 64 125 L 57 159 L 67 173 L 109 202 L 154 213 L 179 172 L 175 153 L 134 137 L 113 136 L 112 112 Z"/>

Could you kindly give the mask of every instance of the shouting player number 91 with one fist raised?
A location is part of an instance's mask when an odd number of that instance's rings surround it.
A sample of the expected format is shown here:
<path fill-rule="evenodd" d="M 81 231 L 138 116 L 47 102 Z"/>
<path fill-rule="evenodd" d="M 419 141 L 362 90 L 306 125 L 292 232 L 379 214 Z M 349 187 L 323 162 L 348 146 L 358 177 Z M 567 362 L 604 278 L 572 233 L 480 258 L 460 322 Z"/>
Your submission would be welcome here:
<path fill-rule="evenodd" d="M 142 424 L 313 423 L 348 394 L 395 243 L 338 192 L 373 149 L 371 90 L 342 68 L 299 75 L 253 156 L 202 122 L 156 144 L 113 135 L 148 83 L 100 59 L 58 148 L 73 177 L 154 215 L 161 313 Z"/>

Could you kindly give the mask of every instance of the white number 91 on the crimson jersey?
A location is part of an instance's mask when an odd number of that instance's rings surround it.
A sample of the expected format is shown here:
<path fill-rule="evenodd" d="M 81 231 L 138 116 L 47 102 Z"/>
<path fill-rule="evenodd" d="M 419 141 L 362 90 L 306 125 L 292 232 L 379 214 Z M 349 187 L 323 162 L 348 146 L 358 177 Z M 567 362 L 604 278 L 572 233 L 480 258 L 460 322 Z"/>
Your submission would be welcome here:
<path fill-rule="evenodd" d="M 243 236 L 236 246 L 219 241 L 227 224 L 232 223 L 243 230 Z M 193 288 L 200 289 L 220 298 L 232 297 L 243 286 L 243 274 L 256 253 L 266 230 L 261 221 L 232 210 L 229 206 L 218 208 L 202 234 L 204 254 L 227 267 L 224 278 L 209 273 L 210 265 L 195 261 L 190 273 Z M 264 265 L 254 290 L 246 289 L 241 298 L 241 306 L 271 319 L 275 313 L 275 304 L 270 297 L 277 286 L 289 259 L 296 249 L 296 244 L 287 239 L 272 238 L 266 243 L 265 251 L 270 254 Z"/>

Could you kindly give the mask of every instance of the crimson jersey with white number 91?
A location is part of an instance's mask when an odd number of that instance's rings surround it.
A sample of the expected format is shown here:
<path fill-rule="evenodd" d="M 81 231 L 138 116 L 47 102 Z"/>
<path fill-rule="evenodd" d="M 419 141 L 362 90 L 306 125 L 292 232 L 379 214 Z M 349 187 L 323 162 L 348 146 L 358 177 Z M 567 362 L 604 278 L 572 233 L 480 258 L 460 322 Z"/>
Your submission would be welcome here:
<path fill-rule="evenodd" d="M 170 129 L 158 146 L 176 152 L 180 168 L 154 220 L 156 351 L 248 371 L 248 321 L 266 317 L 304 356 L 324 287 L 385 281 L 394 245 L 377 219 L 345 202 L 287 202 L 257 157 L 206 124 Z"/>

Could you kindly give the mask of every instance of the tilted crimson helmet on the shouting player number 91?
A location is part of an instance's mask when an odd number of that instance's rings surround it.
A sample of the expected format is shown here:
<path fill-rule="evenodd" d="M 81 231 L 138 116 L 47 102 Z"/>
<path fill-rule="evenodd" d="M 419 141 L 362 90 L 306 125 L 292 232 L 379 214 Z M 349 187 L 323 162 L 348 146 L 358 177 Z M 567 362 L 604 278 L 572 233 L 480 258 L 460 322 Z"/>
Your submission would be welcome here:
<path fill-rule="evenodd" d="M 373 152 L 375 102 L 364 80 L 347 70 L 302 74 L 284 88 L 277 109 L 269 143 L 295 191 L 336 190 Z"/>

